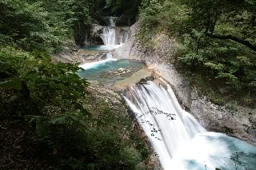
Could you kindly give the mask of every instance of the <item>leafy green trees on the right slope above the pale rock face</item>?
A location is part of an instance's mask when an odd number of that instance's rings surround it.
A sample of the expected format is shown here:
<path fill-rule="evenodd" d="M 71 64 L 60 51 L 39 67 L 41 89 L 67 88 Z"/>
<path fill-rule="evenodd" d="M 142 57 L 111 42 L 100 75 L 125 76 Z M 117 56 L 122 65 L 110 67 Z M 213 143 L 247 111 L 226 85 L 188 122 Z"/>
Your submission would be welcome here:
<path fill-rule="evenodd" d="M 254 0 L 144 0 L 139 36 L 148 42 L 148 35 L 154 36 L 149 32 L 164 26 L 170 37 L 178 38 L 176 63 L 215 78 L 219 86 L 255 93 L 255 4 Z"/>

